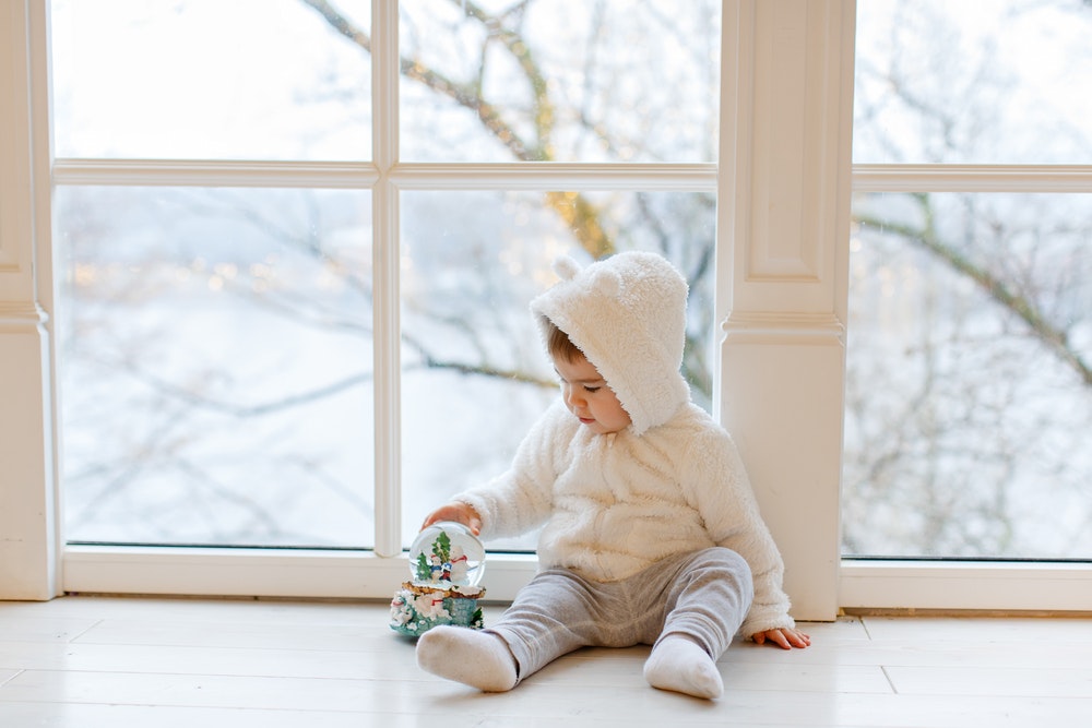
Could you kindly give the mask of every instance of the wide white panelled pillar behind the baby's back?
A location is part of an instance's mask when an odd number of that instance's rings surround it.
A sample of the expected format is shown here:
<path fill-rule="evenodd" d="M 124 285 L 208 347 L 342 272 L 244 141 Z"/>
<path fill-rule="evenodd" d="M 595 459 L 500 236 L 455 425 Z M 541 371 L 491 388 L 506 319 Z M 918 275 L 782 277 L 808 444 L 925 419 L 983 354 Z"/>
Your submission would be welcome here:
<path fill-rule="evenodd" d="M 854 19 L 853 0 L 724 9 L 717 405 L 797 619 L 838 612 Z"/>

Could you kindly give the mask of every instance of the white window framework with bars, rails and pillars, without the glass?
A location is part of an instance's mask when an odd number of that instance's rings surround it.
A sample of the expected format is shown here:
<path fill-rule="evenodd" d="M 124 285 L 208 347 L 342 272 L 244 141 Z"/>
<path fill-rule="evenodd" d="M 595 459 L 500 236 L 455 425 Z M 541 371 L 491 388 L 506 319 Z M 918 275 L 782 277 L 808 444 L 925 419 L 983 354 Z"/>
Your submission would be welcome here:
<path fill-rule="evenodd" d="M 389 598 L 401 556 L 399 193 L 411 189 L 642 189 L 717 193 L 714 410 L 733 431 L 787 565 L 800 619 L 839 608 L 1088 610 L 1089 564 L 843 562 L 839 486 L 851 188 L 1036 183 L 1092 191 L 1092 168 L 851 168 L 854 0 L 725 0 L 717 165 L 411 165 L 395 158 L 395 0 L 373 0 L 369 164 L 55 160 L 46 0 L 0 10 L 0 598 L 66 592 Z M 790 150 L 792 154 L 786 154 Z M 916 180 L 916 181 L 915 181 Z M 923 181 L 925 180 L 925 181 Z M 57 184 L 370 189 L 377 443 L 375 552 L 106 548 L 60 534 L 50 243 Z M 994 186 L 994 187 L 992 187 Z M 947 189 L 947 188 L 945 188 Z M 1036 187 L 1042 191 L 1043 187 Z M 806 403 L 806 406 L 802 406 Z M 821 437 L 817 433 L 822 433 Z M 532 557 L 491 554 L 508 599 Z M 1034 588 L 1028 588 L 1029 582 Z"/>

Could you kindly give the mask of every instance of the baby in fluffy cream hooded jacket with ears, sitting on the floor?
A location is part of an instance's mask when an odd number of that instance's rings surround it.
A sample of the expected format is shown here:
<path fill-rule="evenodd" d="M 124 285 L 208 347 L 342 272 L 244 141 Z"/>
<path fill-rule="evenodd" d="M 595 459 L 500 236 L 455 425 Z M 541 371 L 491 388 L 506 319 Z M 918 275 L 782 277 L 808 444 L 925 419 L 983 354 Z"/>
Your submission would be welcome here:
<path fill-rule="evenodd" d="M 686 281 L 654 253 L 619 253 L 531 303 L 561 383 L 512 466 L 455 496 L 425 526 L 484 538 L 545 524 L 539 573 L 488 630 L 439 626 L 418 665 L 483 691 L 511 690 L 583 646 L 652 645 L 644 678 L 698 697 L 724 690 L 733 636 L 807 647 L 784 566 L 728 433 L 680 373 Z"/>

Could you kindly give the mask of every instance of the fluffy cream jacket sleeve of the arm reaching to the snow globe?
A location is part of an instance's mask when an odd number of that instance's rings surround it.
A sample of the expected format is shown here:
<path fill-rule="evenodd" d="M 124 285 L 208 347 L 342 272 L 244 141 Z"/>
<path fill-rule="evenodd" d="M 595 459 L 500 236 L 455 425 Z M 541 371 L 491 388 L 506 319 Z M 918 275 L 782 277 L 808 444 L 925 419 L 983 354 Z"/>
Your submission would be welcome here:
<path fill-rule="evenodd" d="M 482 516 L 483 540 L 525 534 L 549 517 L 558 463 L 571 439 L 565 423 L 573 418 L 566 414 L 559 403 L 551 406 L 524 437 L 508 470 L 454 497 Z"/>

